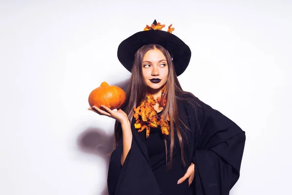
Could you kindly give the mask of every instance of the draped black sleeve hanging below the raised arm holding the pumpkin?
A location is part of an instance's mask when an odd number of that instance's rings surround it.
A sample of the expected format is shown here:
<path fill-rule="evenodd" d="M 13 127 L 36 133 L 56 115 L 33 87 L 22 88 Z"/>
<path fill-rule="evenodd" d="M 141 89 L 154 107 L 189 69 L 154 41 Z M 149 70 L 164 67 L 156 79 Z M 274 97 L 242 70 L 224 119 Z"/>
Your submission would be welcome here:
<path fill-rule="evenodd" d="M 123 140 L 110 156 L 108 172 L 109 195 L 160 195 L 161 191 L 152 172 L 146 145 L 132 123 L 132 143 L 123 167 Z"/>

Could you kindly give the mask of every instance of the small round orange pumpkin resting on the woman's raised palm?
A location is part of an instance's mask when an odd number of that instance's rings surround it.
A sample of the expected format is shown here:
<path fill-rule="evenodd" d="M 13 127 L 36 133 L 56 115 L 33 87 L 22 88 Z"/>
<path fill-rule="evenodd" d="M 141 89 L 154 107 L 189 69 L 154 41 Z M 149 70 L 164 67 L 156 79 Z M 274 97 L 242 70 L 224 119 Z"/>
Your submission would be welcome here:
<path fill-rule="evenodd" d="M 110 86 L 107 82 L 102 82 L 100 87 L 92 90 L 89 95 L 89 105 L 97 106 L 101 105 L 109 107 L 111 110 L 120 108 L 126 100 L 126 93 L 123 89 L 117 86 Z"/>

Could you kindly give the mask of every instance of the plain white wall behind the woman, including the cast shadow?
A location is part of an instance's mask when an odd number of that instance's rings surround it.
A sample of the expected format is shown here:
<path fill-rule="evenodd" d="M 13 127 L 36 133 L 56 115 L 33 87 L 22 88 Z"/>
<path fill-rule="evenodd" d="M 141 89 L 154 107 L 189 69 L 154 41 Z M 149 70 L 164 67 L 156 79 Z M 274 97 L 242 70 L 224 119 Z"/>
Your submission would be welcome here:
<path fill-rule="evenodd" d="M 130 74 L 119 43 L 154 19 L 192 51 L 185 91 L 246 132 L 231 195 L 287 195 L 291 0 L 1 0 L 0 195 L 107 195 L 111 118 L 88 111 Z"/>

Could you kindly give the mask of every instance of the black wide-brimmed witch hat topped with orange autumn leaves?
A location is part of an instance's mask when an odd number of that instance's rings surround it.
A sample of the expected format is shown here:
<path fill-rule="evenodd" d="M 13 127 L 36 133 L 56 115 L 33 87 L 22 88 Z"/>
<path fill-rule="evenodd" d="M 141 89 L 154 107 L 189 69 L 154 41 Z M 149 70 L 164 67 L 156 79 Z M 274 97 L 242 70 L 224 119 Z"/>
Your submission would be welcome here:
<path fill-rule="evenodd" d="M 131 72 L 136 51 L 147 44 L 158 44 L 167 49 L 173 59 L 177 76 L 185 71 L 191 59 L 191 50 L 180 38 L 172 34 L 172 24 L 167 32 L 162 31 L 164 26 L 154 20 L 151 26 L 146 25 L 144 31 L 135 33 L 120 43 L 118 59 L 128 71 Z"/>

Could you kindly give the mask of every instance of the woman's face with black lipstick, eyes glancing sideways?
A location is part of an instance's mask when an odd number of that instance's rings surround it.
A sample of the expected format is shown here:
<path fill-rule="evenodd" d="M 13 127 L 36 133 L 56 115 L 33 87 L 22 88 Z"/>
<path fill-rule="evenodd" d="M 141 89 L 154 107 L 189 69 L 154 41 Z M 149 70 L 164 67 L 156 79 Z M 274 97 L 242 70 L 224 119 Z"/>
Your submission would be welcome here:
<path fill-rule="evenodd" d="M 146 52 L 142 62 L 142 77 L 150 89 L 161 89 L 167 81 L 168 65 L 159 49 Z"/>

